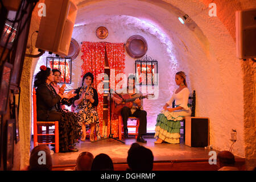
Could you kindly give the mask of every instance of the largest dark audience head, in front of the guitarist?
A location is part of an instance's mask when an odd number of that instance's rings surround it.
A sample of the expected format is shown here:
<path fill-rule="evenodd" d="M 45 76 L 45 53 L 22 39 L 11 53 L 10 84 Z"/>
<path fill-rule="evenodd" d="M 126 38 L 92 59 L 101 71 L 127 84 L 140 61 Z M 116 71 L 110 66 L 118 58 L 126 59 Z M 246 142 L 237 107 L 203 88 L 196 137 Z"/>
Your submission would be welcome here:
<path fill-rule="evenodd" d="M 131 144 L 128 151 L 127 163 L 131 171 L 151 171 L 154 155 L 152 151 L 138 143 Z"/>

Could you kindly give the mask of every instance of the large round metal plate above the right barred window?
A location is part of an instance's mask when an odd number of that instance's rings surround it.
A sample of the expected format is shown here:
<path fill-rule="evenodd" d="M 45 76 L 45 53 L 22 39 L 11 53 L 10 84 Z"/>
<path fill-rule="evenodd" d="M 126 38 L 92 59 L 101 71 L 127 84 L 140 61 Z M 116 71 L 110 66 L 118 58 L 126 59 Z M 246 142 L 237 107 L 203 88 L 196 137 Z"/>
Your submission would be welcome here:
<path fill-rule="evenodd" d="M 133 35 L 125 45 L 127 53 L 133 58 L 141 58 L 147 52 L 147 42 L 141 35 Z"/>

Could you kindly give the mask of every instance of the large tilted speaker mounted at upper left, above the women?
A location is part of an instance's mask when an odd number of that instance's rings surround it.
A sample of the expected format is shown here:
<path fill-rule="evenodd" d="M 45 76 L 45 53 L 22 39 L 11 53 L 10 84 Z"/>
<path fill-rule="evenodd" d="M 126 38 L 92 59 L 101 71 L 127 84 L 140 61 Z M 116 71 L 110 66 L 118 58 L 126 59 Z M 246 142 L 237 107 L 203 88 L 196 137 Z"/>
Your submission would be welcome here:
<path fill-rule="evenodd" d="M 46 0 L 46 16 L 42 16 L 36 47 L 56 55 L 67 56 L 77 6 L 71 0 Z"/>

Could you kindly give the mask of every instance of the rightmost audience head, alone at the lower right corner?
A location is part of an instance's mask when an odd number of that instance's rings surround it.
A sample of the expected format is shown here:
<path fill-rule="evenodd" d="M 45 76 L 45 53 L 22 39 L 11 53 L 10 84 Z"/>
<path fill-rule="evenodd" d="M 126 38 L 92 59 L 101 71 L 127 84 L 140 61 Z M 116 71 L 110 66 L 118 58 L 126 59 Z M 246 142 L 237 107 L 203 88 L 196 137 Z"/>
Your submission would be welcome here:
<path fill-rule="evenodd" d="M 234 167 L 234 155 L 229 151 L 221 151 L 217 155 L 218 171 L 239 171 Z"/>

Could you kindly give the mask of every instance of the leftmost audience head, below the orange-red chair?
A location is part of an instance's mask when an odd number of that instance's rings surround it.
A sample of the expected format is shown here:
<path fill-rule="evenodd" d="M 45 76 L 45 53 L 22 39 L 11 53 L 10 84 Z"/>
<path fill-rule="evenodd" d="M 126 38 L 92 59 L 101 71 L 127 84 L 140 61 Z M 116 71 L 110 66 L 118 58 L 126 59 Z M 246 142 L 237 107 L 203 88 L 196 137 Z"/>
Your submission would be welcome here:
<path fill-rule="evenodd" d="M 28 171 L 52 171 L 52 156 L 46 144 L 36 146 L 30 154 Z"/>

